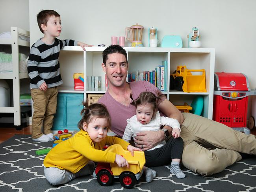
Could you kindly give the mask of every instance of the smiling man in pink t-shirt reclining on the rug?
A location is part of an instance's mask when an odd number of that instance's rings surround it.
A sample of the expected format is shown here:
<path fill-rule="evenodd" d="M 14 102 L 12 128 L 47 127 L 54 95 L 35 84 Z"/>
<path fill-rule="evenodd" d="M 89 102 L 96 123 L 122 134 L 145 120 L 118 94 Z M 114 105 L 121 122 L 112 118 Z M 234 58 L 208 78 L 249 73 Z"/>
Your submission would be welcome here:
<path fill-rule="evenodd" d="M 127 124 L 126 119 L 136 114 L 135 107 L 130 105 L 130 93 L 132 92 L 135 99 L 143 91 L 156 93 L 159 90 L 147 81 L 126 82 L 128 61 L 126 51 L 122 47 L 109 46 L 102 53 L 102 57 L 102 68 L 107 75 L 109 89 L 98 102 L 107 106 L 111 116 L 111 130 L 122 137 Z M 219 173 L 241 160 L 240 153 L 256 155 L 255 135 L 245 135 L 224 124 L 195 114 L 180 113 L 167 99 L 159 101 L 158 109 L 180 122 L 180 136 L 184 140 L 182 163 L 198 174 Z M 135 146 L 144 151 L 151 149 L 168 137 L 171 131 L 171 127 L 164 127 L 160 131 L 136 134 Z"/>

